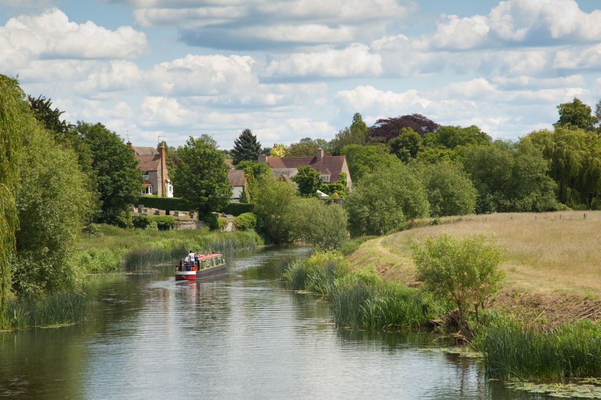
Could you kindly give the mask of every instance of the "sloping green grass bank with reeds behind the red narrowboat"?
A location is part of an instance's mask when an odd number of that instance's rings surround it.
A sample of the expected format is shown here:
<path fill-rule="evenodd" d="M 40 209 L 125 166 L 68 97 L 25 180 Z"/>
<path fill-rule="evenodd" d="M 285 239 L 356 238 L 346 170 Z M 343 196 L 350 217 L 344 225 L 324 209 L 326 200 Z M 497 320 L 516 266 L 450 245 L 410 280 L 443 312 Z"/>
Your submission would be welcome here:
<path fill-rule="evenodd" d="M 96 225 L 97 235 L 85 234 L 73 260 L 87 273 L 132 270 L 165 263 L 198 252 L 254 249 L 261 244 L 254 232 L 209 230 L 141 230 Z"/>

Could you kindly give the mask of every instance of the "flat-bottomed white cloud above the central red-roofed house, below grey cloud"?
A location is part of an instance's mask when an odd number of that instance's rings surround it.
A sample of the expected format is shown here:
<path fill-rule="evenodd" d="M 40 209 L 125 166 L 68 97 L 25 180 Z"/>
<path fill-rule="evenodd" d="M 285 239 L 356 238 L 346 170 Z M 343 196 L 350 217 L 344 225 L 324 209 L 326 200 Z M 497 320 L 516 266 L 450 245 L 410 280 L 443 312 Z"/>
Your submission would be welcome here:
<path fill-rule="evenodd" d="M 326 47 L 311 53 L 278 56 L 267 64 L 265 77 L 353 77 L 378 76 L 382 57 L 370 53 L 365 44 L 355 43 L 343 50 Z"/>

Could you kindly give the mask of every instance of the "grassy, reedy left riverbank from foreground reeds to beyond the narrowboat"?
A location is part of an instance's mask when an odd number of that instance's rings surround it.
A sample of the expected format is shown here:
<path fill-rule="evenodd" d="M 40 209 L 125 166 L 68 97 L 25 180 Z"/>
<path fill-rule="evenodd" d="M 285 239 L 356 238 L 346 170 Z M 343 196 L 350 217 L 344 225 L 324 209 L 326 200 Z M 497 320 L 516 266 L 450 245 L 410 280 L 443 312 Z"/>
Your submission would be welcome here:
<path fill-rule="evenodd" d="M 63 326 L 87 318 L 94 298 L 85 287 L 88 273 L 132 271 L 177 260 L 197 252 L 231 252 L 263 244 L 254 232 L 209 230 L 123 229 L 95 224 L 94 234 L 82 234 L 70 262 L 81 275 L 81 286 L 44 295 L 13 297 L 0 315 L 0 330 L 32 326 Z"/>

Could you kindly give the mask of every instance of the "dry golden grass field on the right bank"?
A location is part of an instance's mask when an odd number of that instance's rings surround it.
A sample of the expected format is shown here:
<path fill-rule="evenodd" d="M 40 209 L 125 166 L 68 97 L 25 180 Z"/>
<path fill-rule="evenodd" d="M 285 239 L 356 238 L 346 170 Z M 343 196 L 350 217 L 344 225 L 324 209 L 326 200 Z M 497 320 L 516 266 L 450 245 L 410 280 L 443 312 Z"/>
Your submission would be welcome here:
<path fill-rule="evenodd" d="M 562 308 L 570 310 L 571 318 L 601 317 L 601 211 L 499 213 L 457 219 L 443 218 L 448 223 L 368 240 L 349 261 L 374 264 L 384 278 L 414 285 L 413 243 L 439 233 L 456 237 L 481 233 L 507 249 L 501 265 L 507 279 L 499 302 L 542 308 L 554 320 L 570 319 L 561 318 Z"/>

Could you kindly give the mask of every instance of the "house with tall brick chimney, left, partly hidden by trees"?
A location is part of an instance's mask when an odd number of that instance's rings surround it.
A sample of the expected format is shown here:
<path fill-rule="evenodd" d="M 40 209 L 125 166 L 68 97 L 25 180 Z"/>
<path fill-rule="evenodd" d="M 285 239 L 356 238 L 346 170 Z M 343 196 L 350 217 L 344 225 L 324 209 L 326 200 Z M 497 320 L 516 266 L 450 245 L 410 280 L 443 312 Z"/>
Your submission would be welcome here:
<path fill-rule="evenodd" d="M 144 187 L 140 194 L 173 197 L 173 186 L 167 175 L 165 146 L 161 145 L 158 151 L 153 147 L 132 146 L 132 142 L 127 142 L 127 146 L 139 161 L 138 168 L 144 172 Z"/>

